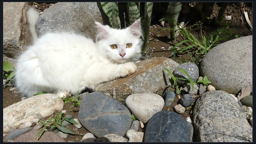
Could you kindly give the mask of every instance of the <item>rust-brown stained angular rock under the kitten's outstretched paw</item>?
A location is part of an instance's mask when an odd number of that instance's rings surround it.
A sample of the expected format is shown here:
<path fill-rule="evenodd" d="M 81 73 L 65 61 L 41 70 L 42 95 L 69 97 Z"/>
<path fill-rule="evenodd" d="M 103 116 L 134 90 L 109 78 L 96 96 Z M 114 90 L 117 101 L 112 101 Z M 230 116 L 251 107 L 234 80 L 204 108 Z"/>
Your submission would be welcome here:
<path fill-rule="evenodd" d="M 171 76 L 164 70 L 171 72 L 179 64 L 170 58 L 150 58 L 136 63 L 137 71 L 125 78 L 119 78 L 99 84 L 95 91 L 105 92 L 109 96 L 125 104 L 125 99 L 131 94 L 156 93 L 162 86 L 170 85 Z"/>

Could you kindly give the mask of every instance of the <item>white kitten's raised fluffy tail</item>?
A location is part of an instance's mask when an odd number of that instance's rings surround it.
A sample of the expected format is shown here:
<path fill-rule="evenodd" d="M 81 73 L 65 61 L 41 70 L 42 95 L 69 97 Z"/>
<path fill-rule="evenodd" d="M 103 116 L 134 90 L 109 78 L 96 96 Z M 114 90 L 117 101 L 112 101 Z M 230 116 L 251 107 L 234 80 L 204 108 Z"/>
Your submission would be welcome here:
<path fill-rule="evenodd" d="M 33 38 L 33 41 L 35 42 L 37 40 L 37 34 L 36 34 L 36 29 L 35 29 L 35 24 L 36 24 L 36 21 L 38 20 L 39 18 L 39 12 L 30 7 L 28 8 L 28 22 L 29 22 L 29 30 L 31 32 L 31 35 L 32 35 L 32 38 Z"/>

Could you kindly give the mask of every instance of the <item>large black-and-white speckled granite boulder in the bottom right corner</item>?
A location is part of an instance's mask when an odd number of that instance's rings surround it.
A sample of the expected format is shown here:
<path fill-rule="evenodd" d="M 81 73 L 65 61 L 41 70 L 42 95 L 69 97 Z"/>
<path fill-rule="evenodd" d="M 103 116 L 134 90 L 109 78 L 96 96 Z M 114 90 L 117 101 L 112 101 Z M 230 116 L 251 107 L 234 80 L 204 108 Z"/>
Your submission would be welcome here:
<path fill-rule="evenodd" d="M 193 112 L 197 142 L 252 142 L 252 128 L 239 104 L 227 92 L 203 93 Z"/>

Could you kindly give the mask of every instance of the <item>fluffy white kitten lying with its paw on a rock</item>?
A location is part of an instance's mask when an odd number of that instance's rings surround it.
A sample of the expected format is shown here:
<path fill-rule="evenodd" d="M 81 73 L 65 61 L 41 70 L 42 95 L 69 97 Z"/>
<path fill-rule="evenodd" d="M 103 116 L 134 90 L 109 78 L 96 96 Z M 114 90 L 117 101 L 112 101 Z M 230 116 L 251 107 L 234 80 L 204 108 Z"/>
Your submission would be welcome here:
<path fill-rule="evenodd" d="M 140 19 L 126 29 L 114 29 L 95 22 L 96 43 L 75 33 L 48 33 L 37 38 L 38 17 L 29 8 L 28 21 L 34 44 L 18 58 L 14 81 L 28 97 L 40 91 L 62 97 L 84 88 L 125 77 L 136 71 L 141 57 Z"/>

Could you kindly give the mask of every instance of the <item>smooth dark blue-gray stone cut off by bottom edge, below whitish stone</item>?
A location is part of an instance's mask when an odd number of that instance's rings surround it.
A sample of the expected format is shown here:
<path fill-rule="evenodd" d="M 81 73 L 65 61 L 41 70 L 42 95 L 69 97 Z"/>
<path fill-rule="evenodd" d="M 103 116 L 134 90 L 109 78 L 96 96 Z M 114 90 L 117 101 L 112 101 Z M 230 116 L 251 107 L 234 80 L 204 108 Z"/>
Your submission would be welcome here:
<path fill-rule="evenodd" d="M 148 120 L 144 142 L 191 142 L 188 124 L 176 112 L 157 112 Z"/>

